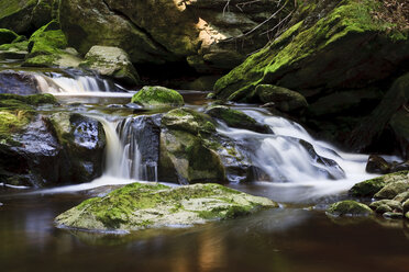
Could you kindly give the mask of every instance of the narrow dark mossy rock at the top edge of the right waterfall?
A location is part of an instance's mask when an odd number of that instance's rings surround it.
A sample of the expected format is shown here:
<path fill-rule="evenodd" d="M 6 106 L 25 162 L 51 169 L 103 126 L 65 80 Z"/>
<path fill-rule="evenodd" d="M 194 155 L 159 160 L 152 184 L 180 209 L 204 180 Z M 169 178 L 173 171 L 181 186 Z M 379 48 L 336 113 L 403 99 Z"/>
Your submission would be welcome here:
<path fill-rule="evenodd" d="M 206 113 L 214 118 L 223 121 L 228 126 L 231 127 L 250 129 L 264 134 L 273 134 L 273 131 L 269 126 L 259 124 L 257 121 L 250 117 L 248 115 L 240 111 L 232 110 L 228 106 L 223 105 L 210 106 L 206 111 Z"/>

